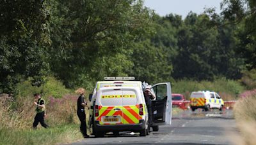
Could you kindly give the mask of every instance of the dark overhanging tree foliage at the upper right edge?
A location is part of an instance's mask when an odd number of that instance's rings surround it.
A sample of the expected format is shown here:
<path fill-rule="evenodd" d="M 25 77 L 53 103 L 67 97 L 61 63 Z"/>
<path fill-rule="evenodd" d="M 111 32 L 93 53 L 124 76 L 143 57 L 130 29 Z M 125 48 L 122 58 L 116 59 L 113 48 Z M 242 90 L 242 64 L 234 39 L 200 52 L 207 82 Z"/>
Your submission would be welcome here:
<path fill-rule="evenodd" d="M 246 59 L 248 69 L 256 67 L 256 3 L 254 0 L 225 0 L 222 3 L 223 17 L 232 24 L 239 25 L 237 30 L 237 53 Z"/>

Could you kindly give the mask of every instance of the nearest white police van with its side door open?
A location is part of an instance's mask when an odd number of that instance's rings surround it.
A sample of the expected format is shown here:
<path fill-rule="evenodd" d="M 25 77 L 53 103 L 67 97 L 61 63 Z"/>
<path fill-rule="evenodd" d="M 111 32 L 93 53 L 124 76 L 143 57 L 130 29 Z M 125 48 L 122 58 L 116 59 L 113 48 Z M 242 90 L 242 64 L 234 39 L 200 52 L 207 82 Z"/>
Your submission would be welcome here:
<path fill-rule="evenodd" d="M 97 81 L 90 94 L 89 125 L 95 137 L 108 132 L 139 132 L 148 135 L 148 113 L 143 89 L 145 83 L 134 81 L 134 77 L 105 77 Z M 152 120 L 155 130 L 158 125 L 170 125 L 172 121 L 172 92 L 170 83 L 152 85 Z"/>

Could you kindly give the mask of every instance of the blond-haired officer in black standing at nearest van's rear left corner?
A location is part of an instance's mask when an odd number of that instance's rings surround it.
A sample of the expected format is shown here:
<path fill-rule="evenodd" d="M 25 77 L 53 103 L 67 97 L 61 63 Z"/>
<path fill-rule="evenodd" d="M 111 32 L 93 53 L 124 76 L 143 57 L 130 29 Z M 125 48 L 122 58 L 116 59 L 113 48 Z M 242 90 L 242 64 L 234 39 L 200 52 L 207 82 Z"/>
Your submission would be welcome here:
<path fill-rule="evenodd" d="M 79 120 L 81 121 L 81 125 L 80 125 L 80 131 L 83 134 L 83 137 L 89 137 L 89 135 L 87 135 L 87 129 L 86 129 L 86 114 L 85 114 L 85 110 L 84 107 L 88 107 L 87 103 L 84 101 L 84 93 L 85 90 L 84 88 L 79 88 L 76 90 L 76 93 L 80 93 L 78 99 L 77 99 L 77 116 L 79 118 Z"/>

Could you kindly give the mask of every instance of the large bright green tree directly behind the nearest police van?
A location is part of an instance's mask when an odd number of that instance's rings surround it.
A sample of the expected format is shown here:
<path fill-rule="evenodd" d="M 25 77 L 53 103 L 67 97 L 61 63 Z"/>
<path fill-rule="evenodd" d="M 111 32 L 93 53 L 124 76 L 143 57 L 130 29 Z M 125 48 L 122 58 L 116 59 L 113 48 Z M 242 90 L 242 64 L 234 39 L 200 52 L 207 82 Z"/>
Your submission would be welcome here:
<path fill-rule="evenodd" d="M 52 11 L 51 69 L 69 87 L 127 75 L 132 43 L 152 33 L 142 1 L 60 0 Z"/>

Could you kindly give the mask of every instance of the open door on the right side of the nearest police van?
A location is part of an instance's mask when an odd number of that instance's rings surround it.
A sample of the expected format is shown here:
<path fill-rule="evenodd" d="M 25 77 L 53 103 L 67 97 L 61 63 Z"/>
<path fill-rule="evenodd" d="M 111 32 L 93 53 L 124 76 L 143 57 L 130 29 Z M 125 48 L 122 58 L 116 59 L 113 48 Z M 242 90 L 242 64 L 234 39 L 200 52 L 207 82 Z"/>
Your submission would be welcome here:
<path fill-rule="evenodd" d="M 156 100 L 152 100 L 153 125 L 171 125 L 172 90 L 171 83 L 157 83 L 152 86 Z"/>

